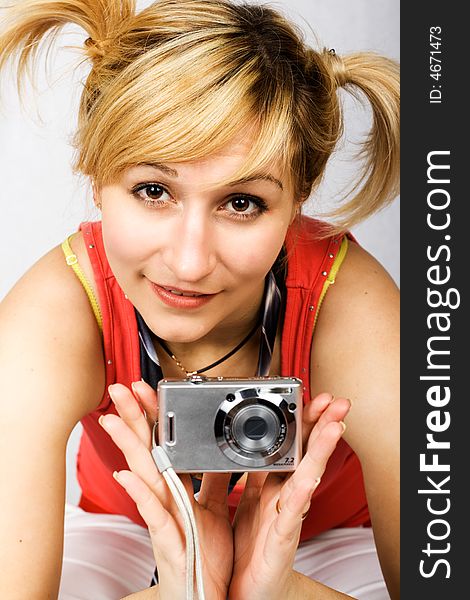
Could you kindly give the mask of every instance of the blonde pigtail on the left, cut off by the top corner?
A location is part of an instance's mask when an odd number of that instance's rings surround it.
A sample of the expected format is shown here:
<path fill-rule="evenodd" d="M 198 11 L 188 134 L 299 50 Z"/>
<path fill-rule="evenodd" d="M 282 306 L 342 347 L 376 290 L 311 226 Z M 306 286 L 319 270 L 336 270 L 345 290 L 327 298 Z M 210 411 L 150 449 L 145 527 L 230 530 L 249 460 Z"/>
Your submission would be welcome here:
<path fill-rule="evenodd" d="M 18 58 L 17 88 L 27 74 L 34 81 L 39 50 L 49 50 L 61 28 L 74 23 L 89 36 L 85 55 L 97 63 L 113 51 L 113 38 L 135 13 L 135 0 L 20 0 L 0 12 L 0 70 Z"/>

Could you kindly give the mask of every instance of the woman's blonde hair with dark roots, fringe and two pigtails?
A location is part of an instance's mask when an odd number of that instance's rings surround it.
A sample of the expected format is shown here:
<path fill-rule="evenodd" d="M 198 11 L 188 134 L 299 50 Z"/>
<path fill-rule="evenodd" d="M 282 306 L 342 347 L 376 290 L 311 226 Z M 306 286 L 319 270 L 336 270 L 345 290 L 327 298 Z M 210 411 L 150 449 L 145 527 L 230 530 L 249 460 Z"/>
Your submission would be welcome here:
<path fill-rule="evenodd" d="M 207 157 L 246 131 L 255 141 L 233 177 L 278 162 L 301 202 L 342 135 L 345 88 L 365 94 L 373 123 L 355 194 L 331 213 L 336 228 L 398 192 L 399 72 L 388 58 L 313 50 L 279 12 L 229 0 L 159 0 L 139 13 L 134 0 L 20 0 L 4 17 L 0 69 L 18 55 L 20 94 L 43 38 L 67 23 L 86 31 L 74 169 L 97 186 L 129 166 Z"/>

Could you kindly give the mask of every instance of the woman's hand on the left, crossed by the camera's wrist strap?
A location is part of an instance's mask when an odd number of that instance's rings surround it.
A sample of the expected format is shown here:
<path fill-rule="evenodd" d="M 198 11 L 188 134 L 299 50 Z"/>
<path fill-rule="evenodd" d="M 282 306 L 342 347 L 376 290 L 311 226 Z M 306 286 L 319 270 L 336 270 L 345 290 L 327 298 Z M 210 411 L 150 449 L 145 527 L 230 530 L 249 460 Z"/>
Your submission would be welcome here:
<path fill-rule="evenodd" d="M 130 471 L 120 471 L 117 481 L 134 500 L 147 523 L 159 575 L 162 600 L 186 597 L 186 540 L 183 521 L 165 479 L 156 468 L 151 449 L 150 420 L 157 414 L 155 391 L 144 382 L 109 387 L 120 417 L 105 415 L 102 427 L 126 457 Z M 140 401 L 140 405 L 137 401 Z M 191 477 L 180 476 L 196 519 L 207 600 L 225 600 L 232 574 L 233 536 L 227 507 L 230 474 L 205 473 L 198 501 Z"/>

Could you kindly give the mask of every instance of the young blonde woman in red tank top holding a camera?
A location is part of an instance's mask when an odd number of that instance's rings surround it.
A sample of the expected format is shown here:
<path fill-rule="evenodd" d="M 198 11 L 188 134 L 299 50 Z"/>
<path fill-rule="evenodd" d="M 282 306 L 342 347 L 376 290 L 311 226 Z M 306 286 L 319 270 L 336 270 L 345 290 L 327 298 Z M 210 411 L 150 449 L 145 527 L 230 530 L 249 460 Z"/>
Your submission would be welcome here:
<path fill-rule="evenodd" d="M 345 233 L 396 195 L 397 66 L 313 50 L 266 6 L 22 0 L 0 67 L 19 51 L 21 78 L 69 22 L 92 61 L 75 168 L 102 218 L 2 303 L 2 597 L 118 598 L 155 561 L 135 597 L 185 597 L 181 519 L 149 447 L 158 380 L 197 371 L 296 376 L 305 404 L 292 477 L 182 478 L 207 598 L 398 598 L 398 294 Z M 342 87 L 373 126 L 332 227 L 301 207 L 341 135 Z"/>

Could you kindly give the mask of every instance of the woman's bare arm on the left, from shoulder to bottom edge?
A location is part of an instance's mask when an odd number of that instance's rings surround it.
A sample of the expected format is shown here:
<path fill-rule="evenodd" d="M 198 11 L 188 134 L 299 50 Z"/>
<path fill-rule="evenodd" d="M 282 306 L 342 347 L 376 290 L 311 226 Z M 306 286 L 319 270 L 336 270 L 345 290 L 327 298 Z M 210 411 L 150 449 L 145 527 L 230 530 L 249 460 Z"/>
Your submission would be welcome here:
<path fill-rule="evenodd" d="M 0 306 L 0 382 L 0 597 L 56 598 L 66 444 L 104 387 L 99 330 L 60 248 Z"/>

